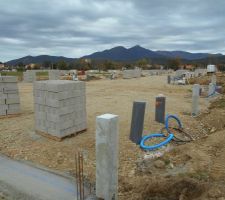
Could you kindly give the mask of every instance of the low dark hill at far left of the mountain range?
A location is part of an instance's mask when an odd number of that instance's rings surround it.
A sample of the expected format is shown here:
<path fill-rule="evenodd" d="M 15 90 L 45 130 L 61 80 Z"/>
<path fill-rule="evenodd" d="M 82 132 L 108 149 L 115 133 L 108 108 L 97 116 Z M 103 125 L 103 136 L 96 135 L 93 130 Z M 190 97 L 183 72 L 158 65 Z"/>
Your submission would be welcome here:
<path fill-rule="evenodd" d="M 27 65 L 30 63 L 43 63 L 45 61 L 50 61 L 52 63 L 56 63 L 60 60 L 64 60 L 65 62 L 72 62 L 75 59 L 74 58 L 66 58 L 63 56 L 48 56 L 48 55 L 40 55 L 40 56 L 25 56 L 19 59 L 10 60 L 6 62 L 7 65 L 17 65 L 18 63 L 22 62 L 23 64 Z"/>

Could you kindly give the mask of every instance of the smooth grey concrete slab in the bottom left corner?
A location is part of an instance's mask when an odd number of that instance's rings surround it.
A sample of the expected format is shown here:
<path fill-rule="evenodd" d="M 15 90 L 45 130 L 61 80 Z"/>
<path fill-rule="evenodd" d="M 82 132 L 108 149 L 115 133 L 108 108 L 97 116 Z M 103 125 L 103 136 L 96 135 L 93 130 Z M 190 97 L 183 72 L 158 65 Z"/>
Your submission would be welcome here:
<path fill-rule="evenodd" d="M 0 180 L 39 200 L 77 200 L 76 184 L 72 179 L 2 156 Z"/>

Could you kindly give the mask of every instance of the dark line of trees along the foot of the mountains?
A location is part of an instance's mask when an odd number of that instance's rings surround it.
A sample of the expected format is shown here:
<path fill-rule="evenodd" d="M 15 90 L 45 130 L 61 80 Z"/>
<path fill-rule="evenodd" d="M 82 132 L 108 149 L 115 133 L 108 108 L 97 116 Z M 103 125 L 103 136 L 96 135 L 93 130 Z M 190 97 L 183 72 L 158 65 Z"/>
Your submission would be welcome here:
<path fill-rule="evenodd" d="M 43 63 L 36 63 L 33 66 L 27 65 L 25 68 L 25 64 L 19 62 L 16 68 L 19 71 L 24 71 L 25 69 L 59 69 L 59 70 L 70 70 L 70 69 L 77 69 L 77 70 L 103 70 L 106 71 L 108 69 L 133 69 L 134 67 L 139 67 L 142 69 L 159 69 L 161 66 L 164 69 L 173 69 L 177 70 L 182 67 L 185 69 L 187 65 L 192 65 L 193 69 L 195 68 L 206 68 L 207 64 L 216 64 L 220 71 L 225 71 L 225 61 L 222 62 L 210 62 L 207 60 L 200 60 L 200 61 L 184 61 L 177 58 L 167 59 L 166 61 L 162 62 L 163 64 L 159 64 L 159 62 L 152 61 L 149 58 L 142 58 L 137 61 L 130 61 L 130 62 L 119 62 L 119 61 L 111 61 L 111 60 L 90 60 L 90 59 L 77 59 L 73 62 L 65 62 L 64 60 L 60 60 L 58 62 L 51 62 L 51 61 L 44 61 Z"/>

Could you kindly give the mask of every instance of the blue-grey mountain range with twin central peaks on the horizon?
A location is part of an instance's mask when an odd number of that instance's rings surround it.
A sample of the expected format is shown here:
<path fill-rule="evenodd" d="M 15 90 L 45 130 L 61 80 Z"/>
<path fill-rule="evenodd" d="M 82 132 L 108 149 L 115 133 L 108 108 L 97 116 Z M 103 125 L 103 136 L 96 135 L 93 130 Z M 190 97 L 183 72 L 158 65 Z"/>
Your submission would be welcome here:
<path fill-rule="evenodd" d="M 179 57 L 182 60 L 194 61 L 202 60 L 207 58 L 223 58 L 222 54 L 209 54 L 209 53 L 190 53 L 186 51 L 152 51 L 146 48 L 143 48 L 139 45 L 136 45 L 131 48 L 125 48 L 123 46 L 117 46 L 112 49 L 104 50 L 101 52 L 95 52 L 90 55 L 83 56 L 81 58 L 89 58 L 94 60 L 111 60 L 111 61 L 120 61 L 120 62 L 134 62 L 142 58 L 148 58 L 151 61 L 166 61 L 172 58 Z M 22 62 L 23 64 L 30 63 L 43 63 L 45 61 L 50 61 L 56 63 L 60 60 L 64 60 L 67 63 L 73 62 L 78 58 L 67 58 L 62 56 L 49 56 L 49 55 L 40 55 L 40 56 L 25 56 L 19 59 L 10 60 L 6 62 L 7 65 L 17 65 Z"/>

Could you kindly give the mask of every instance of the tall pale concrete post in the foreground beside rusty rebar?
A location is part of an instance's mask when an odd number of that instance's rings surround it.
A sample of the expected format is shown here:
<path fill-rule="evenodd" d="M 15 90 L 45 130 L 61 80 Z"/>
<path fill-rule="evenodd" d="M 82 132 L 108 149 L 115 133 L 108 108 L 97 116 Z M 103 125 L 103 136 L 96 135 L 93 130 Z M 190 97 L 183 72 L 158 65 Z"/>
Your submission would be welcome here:
<path fill-rule="evenodd" d="M 96 118 L 96 196 L 118 199 L 118 116 Z"/>

